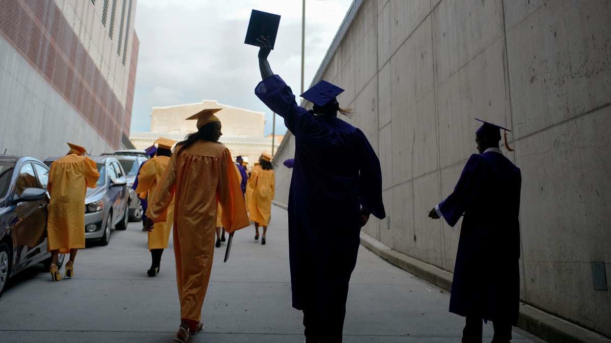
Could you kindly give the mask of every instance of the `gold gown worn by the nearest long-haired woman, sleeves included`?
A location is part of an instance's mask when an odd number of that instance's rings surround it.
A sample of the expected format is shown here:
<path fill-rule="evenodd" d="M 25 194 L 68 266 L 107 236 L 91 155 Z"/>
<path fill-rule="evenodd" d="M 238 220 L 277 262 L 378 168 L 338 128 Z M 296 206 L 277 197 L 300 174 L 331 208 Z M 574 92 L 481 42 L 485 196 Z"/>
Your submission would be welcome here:
<path fill-rule="evenodd" d="M 199 321 L 214 256 L 217 204 L 228 233 L 249 225 L 240 182 L 229 150 L 221 143 L 199 141 L 178 146 L 148 204 L 147 216 L 163 222 L 174 204 L 174 255 L 181 319 Z M 155 228 L 153 228 L 155 231 Z"/>

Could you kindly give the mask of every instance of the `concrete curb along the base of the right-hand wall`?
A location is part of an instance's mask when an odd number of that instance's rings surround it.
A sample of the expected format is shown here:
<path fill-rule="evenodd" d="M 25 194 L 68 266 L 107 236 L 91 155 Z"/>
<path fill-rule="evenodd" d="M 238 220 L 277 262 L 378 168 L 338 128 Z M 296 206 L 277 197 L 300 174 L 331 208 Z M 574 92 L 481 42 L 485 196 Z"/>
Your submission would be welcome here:
<path fill-rule="evenodd" d="M 279 207 L 279 204 L 277 205 Z M 397 267 L 446 291 L 452 288 L 452 273 L 392 250 L 368 234 L 360 233 L 360 244 Z M 518 327 L 547 342 L 611 343 L 611 339 L 567 320 L 520 302 Z"/>

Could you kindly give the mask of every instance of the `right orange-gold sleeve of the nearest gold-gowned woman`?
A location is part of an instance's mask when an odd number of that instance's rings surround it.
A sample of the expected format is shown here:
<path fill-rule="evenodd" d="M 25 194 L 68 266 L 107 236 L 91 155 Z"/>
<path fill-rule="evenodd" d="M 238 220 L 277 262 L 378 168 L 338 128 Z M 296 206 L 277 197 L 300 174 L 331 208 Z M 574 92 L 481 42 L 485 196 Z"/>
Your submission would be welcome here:
<path fill-rule="evenodd" d="M 221 222 L 228 233 L 250 225 L 246 214 L 246 204 L 238 182 L 238 175 L 232 167 L 229 150 L 225 149 L 220 157 L 219 182 L 216 194 L 222 207 Z M 235 166 L 235 165 L 234 165 Z"/>

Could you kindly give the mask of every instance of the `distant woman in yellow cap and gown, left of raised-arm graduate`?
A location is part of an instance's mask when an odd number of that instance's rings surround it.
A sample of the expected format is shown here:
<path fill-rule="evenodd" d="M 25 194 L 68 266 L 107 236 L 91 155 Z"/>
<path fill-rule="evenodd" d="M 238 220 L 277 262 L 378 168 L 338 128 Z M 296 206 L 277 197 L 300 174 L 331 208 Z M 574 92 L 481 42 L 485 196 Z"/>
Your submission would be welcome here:
<path fill-rule="evenodd" d="M 259 157 L 259 163 L 252 168 L 246 186 L 246 194 L 249 197 L 248 213 L 255 223 L 255 240 L 259 239 L 259 225 L 263 226 L 262 245 L 265 245 L 265 234 L 271 217 L 271 201 L 274 200 L 274 170 L 271 159 L 272 156 L 265 152 Z"/>

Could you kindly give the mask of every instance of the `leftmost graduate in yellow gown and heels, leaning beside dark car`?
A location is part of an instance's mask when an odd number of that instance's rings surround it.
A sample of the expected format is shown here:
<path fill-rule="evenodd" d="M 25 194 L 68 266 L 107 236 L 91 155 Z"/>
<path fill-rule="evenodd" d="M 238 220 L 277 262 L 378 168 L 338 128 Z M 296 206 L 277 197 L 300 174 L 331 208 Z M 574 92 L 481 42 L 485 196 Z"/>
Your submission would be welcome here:
<path fill-rule="evenodd" d="M 57 255 L 70 253 L 65 277 L 74 275 L 76 251 L 85 247 L 85 193 L 95 188 L 100 173 L 85 148 L 68 143 L 70 151 L 51 164 L 49 170 L 49 209 L 47 218 L 47 248 L 51 251 L 51 278 L 61 280 L 57 270 Z"/>

